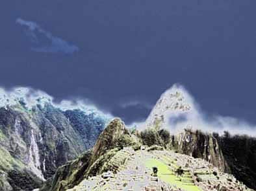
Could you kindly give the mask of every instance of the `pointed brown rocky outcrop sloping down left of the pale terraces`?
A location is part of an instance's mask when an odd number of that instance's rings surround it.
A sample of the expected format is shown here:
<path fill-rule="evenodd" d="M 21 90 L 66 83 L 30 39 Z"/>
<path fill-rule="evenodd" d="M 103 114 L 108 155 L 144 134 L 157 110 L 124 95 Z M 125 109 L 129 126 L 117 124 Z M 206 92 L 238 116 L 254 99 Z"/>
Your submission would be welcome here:
<path fill-rule="evenodd" d="M 92 151 L 84 153 L 75 161 L 58 168 L 53 179 L 41 189 L 42 191 L 64 191 L 78 185 L 83 179 L 107 172 L 109 161 L 124 146 L 135 146 L 138 140 L 125 128 L 120 118 L 114 118 L 99 135 Z"/>

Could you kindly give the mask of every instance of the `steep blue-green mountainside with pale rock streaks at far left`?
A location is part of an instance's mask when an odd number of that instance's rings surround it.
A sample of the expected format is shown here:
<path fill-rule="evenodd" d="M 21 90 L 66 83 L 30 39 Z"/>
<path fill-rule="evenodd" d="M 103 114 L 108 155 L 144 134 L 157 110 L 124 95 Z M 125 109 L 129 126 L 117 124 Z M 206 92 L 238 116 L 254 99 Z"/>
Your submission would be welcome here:
<path fill-rule="evenodd" d="M 63 111 L 51 104 L 1 107 L 0 190 L 40 187 L 58 166 L 92 148 L 105 122 L 94 113 Z"/>

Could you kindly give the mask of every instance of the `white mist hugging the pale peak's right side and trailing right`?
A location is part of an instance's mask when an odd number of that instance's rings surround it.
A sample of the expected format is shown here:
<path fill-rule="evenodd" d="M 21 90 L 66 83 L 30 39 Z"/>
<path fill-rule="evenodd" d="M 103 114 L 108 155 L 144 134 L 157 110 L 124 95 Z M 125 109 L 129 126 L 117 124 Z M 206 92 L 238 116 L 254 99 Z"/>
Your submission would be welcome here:
<path fill-rule="evenodd" d="M 182 85 L 173 85 L 167 91 L 181 92 L 185 102 L 191 107 L 185 112 L 175 111 L 168 115 L 168 128 L 170 131 L 179 132 L 184 128 L 200 129 L 207 132 L 216 132 L 222 135 L 229 131 L 231 135 L 250 135 L 256 137 L 256 125 L 235 117 L 209 115 L 199 106 L 196 99 L 188 93 Z"/>

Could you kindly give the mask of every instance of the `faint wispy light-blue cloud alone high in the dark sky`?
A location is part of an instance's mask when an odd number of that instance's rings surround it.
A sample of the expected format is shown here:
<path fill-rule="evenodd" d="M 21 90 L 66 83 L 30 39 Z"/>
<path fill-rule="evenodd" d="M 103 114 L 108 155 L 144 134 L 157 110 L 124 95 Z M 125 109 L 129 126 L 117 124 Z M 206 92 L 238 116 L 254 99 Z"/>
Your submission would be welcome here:
<path fill-rule="evenodd" d="M 51 32 L 47 32 L 43 28 L 40 27 L 37 23 L 33 21 L 25 21 L 21 18 L 16 19 L 16 23 L 21 26 L 27 27 L 25 31 L 26 34 L 31 38 L 32 43 L 38 44 L 40 39 L 38 38 L 38 34 L 43 34 L 45 38 L 49 41 L 49 44 L 42 41 L 42 45 L 38 45 L 38 47 L 32 47 L 32 51 L 36 52 L 64 52 L 66 54 L 71 54 L 73 52 L 79 51 L 79 48 L 75 45 L 70 45 L 64 39 L 53 36 Z M 47 44 L 47 45 L 46 45 Z"/>

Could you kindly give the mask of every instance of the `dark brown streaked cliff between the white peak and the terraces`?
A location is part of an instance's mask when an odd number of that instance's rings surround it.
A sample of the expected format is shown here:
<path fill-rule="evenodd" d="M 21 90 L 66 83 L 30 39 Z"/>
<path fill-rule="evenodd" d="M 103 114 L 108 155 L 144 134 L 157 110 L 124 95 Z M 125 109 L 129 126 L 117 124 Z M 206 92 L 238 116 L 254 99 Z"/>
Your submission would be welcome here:
<path fill-rule="evenodd" d="M 165 129 L 157 131 L 147 128 L 140 133 L 140 139 L 147 146 L 159 145 L 192 157 L 205 159 L 214 166 L 218 166 L 223 172 L 229 172 L 229 166 L 218 145 L 218 140 L 211 134 L 184 129 L 182 133 L 170 135 Z"/>

